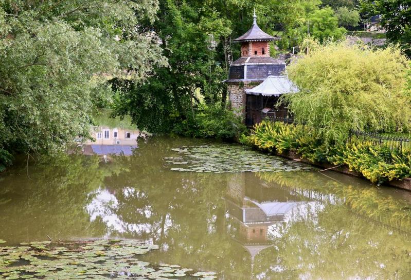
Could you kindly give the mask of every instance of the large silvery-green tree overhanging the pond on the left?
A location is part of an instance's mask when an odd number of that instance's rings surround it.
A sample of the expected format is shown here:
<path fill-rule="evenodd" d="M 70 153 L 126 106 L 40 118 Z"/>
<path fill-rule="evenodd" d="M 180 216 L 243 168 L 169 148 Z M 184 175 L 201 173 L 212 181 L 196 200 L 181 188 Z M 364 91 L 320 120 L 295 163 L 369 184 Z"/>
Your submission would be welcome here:
<path fill-rule="evenodd" d="M 148 1 L 0 0 L 0 161 L 89 137 L 93 104 L 111 92 L 105 74 L 127 70 L 140 81 L 164 65 L 160 48 L 137 28 L 157 8 Z"/>

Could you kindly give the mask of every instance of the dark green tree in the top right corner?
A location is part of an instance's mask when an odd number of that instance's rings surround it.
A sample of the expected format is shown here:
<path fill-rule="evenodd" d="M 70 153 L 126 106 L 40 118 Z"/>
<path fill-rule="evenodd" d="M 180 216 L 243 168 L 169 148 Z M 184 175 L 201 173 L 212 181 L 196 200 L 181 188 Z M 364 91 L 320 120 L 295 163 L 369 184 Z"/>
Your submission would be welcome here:
<path fill-rule="evenodd" d="M 409 2 L 403 0 L 362 0 L 362 12 L 365 17 L 381 16 L 381 26 L 386 30 L 387 39 L 401 44 L 411 54 L 411 8 Z"/>

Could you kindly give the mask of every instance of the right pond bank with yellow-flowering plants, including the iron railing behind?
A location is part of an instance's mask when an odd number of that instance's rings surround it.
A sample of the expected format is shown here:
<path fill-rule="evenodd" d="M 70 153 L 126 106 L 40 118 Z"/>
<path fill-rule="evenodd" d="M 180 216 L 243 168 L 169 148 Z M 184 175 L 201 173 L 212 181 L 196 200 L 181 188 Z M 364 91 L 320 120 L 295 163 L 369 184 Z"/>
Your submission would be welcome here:
<path fill-rule="evenodd" d="M 324 135 L 304 125 L 263 121 L 253 127 L 250 135 L 242 135 L 240 142 L 327 170 L 364 177 L 374 184 L 411 190 L 410 141 L 398 137 L 396 145 L 386 139 L 392 137 L 357 132 L 342 144 L 325 141 Z"/>

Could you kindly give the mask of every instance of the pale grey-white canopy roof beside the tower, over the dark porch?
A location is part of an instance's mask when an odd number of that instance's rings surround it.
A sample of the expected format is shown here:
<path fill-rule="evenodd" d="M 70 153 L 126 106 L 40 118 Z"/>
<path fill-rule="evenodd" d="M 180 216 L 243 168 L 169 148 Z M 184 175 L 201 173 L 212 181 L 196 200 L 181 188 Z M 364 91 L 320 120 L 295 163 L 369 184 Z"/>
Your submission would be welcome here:
<path fill-rule="evenodd" d="M 252 95 L 280 96 L 298 92 L 298 89 L 287 76 L 268 76 L 260 85 L 246 89 L 245 92 Z"/>

